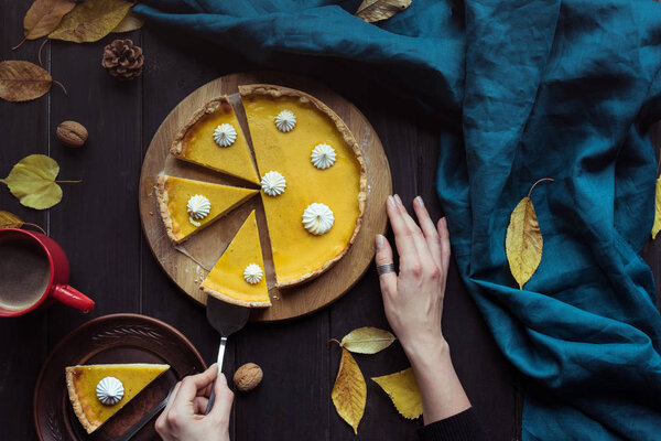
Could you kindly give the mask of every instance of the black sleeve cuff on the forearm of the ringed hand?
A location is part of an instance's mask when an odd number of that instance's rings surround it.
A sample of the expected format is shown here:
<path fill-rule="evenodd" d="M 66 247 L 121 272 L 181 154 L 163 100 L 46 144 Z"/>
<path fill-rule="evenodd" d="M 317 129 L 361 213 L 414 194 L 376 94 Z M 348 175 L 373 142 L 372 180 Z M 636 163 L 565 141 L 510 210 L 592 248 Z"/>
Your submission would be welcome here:
<path fill-rule="evenodd" d="M 420 441 L 486 441 L 473 408 L 418 429 Z"/>

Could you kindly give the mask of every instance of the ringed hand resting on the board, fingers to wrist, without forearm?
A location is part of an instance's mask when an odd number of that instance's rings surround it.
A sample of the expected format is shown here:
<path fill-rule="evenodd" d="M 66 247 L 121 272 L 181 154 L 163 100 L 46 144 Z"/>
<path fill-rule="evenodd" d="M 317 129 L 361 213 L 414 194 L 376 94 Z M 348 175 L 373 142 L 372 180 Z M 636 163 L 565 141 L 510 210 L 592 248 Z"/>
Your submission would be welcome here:
<path fill-rule="evenodd" d="M 451 252 L 445 217 L 434 226 L 420 196 L 413 201 L 413 208 L 420 226 L 398 195 L 388 196 L 386 209 L 400 268 L 399 275 L 392 271 L 379 276 L 386 318 L 412 362 L 447 346 L 441 318 Z M 376 243 L 377 266 L 392 263 L 388 239 L 378 235 Z"/>

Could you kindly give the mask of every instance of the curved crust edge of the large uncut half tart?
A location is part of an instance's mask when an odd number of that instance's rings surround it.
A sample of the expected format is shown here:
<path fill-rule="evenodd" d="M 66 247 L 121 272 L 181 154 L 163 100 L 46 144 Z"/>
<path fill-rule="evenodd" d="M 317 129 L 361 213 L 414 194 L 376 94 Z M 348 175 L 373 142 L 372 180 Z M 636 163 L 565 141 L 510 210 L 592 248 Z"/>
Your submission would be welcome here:
<path fill-rule="evenodd" d="M 349 146 L 351 148 L 351 150 L 354 151 L 354 155 L 356 157 L 356 160 L 358 161 L 358 164 L 360 165 L 360 190 L 358 192 L 358 217 L 356 218 L 356 225 L 354 227 L 354 233 L 351 234 L 349 241 L 347 243 L 347 245 L 345 246 L 345 248 L 342 251 L 339 251 L 334 258 L 327 260 L 323 266 L 321 266 L 316 270 L 308 272 L 306 275 L 303 275 L 297 279 L 288 280 L 285 282 L 278 282 L 278 279 L 275 279 L 275 286 L 278 288 L 293 287 L 295 284 L 312 280 L 312 279 L 321 276 L 324 271 L 326 271 L 328 268 L 330 268 L 333 265 L 335 265 L 339 259 L 342 259 L 348 252 L 350 246 L 356 240 L 356 237 L 358 236 L 358 233 L 360 232 L 360 227 L 362 225 L 362 217 L 365 215 L 365 206 L 367 204 L 367 170 L 365 166 L 365 159 L 362 155 L 362 151 L 360 150 L 360 146 L 356 141 L 356 138 L 354 138 L 354 135 L 351 133 L 351 131 L 349 130 L 347 125 L 342 120 L 342 118 L 339 118 L 339 116 L 337 116 L 337 114 L 335 114 L 335 111 L 333 111 L 328 106 L 326 106 L 324 103 L 322 103 L 317 98 L 315 98 L 304 92 L 297 90 L 297 89 L 292 89 L 289 87 L 277 86 L 277 85 L 271 85 L 271 84 L 239 85 L 239 93 L 241 94 L 241 98 L 245 96 L 249 96 L 249 95 L 263 95 L 263 96 L 270 96 L 273 98 L 278 98 L 281 96 L 289 96 L 289 97 L 297 98 L 303 104 L 307 104 L 307 103 L 312 104 L 318 111 L 326 115 L 326 117 L 328 117 L 333 121 L 333 123 L 335 125 L 337 130 L 342 133 L 345 143 L 347 146 Z M 254 150 L 254 147 L 253 147 L 253 150 Z"/>

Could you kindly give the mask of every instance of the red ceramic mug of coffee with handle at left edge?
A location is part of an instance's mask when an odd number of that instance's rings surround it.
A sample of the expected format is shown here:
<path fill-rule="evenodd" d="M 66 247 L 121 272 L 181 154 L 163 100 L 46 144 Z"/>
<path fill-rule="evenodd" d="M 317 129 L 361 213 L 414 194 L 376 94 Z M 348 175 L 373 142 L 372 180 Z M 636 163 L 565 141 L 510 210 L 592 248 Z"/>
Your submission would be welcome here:
<path fill-rule="evenodd" d="M 13 245 L 7 245 L 12 241 L 14 243 Z M 4 250 L 2 250 L 3 244 L 6 244 Z M 31 287 L 30 289 L 26 289 L 28 292 L 25 295 L 29 300 L 34 299 L 34 301 L 30 301 L 24 308 L 8 308 L 7 305 L 9 303 L 2 299 L 2 293 L 0 293 L 0 316 L 23 315 L 40 306 L 46 306 L 54 301 L 59 301 L 67 306 L 85 313 L 90 312 L 94 309 L 94 301 L 91 299 L 67 284 L 69 278 L 69 265 L 66 255 L 59 245 L 41 233 L 17 228 L 0 228 L 0 259 L 11 259 L 12 251 L 19 251 L 17 252 L 17 258 L 13 260 L 14 266 L 11 267 L 12 263 L 9 263 L 10 260 L 6 260 L 6 263 L 0 263 L 0 271 L 3 269 L 8 272 L 11 272 L 12 270 L 21 271 L 19 261 L 23 256 L 21 255 L 21 257 L 19 257 L 18 254 L 22 254 L 20 247 L 23 245 L 20 244 L 33 248 L 30 252 L 34 256 L 31 258 L 37 259 L 36 261 L 39 262 L 40 270 L 43 263 L 44 281 L 43 284 L 25 283 Z M 37 256 L 40 252 L 43 252 L 43 256 Z M 39 259 L 43 259 L 43 262 Z M 45 273 L 46 268 L 50 268 L 48 275 Z M 25 269 L 25 271 L 30 270 L 31 269 L 29 268 Z M 9 276 L 0 275 L 0 278 L 9 279 Z M 12 282 L 6 281 L 4 283 Z M 2 289 L 2 281 L 0 281 L 0 289 Z M 30 292 L 31 290 L 34 290 L 34 292 Z M 6 291 L 20 292 L 15 284 L 6 287 Z"/>

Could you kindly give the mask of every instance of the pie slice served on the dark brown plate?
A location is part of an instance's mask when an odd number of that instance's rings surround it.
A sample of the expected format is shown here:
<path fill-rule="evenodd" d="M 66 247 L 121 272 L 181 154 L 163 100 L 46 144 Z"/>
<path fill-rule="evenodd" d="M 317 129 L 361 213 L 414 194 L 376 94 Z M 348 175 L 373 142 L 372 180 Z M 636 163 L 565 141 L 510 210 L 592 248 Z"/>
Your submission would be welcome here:
<path fill-rule="evenodd" d="M 169 365 L 141 363 L 69 366 L 65 369 L 66 388 L 76 417 L 87 433 L 91 433 L 167 369 L 170 369 Z M 115 397 L 119 401 L 104 405 L 97 397 L 97 386 L 101 380 L 107 384 L 109 377 L 111 386 L 117 386 L 116 380 L 119 380 L 123 394 L 121 398 Z"/>

